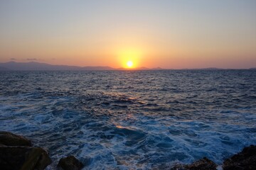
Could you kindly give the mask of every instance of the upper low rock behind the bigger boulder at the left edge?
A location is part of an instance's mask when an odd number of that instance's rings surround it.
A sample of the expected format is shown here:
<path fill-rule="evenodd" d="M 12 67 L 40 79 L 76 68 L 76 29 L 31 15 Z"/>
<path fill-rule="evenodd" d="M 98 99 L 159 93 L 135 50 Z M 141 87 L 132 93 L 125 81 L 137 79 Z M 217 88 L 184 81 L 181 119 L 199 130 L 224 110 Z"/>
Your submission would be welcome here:
<path fill-rule="evenodd" d="M 0 146 L 27 146 L 31 147 L 31 141 L 25 137 L 15 135 L 11 132 L 0 132 Z"/>

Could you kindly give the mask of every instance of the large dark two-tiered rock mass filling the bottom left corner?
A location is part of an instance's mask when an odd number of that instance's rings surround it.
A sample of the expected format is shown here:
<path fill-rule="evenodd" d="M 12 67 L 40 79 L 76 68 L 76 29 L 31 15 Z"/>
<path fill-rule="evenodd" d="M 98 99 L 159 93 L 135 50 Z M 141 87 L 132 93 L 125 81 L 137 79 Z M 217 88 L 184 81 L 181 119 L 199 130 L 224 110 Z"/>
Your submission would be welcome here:
<path fill-rule="evenodd" d="M 51 163 L 47 152 L 11 132 L 0 132 L 0 169 L 43 170 Z"/>

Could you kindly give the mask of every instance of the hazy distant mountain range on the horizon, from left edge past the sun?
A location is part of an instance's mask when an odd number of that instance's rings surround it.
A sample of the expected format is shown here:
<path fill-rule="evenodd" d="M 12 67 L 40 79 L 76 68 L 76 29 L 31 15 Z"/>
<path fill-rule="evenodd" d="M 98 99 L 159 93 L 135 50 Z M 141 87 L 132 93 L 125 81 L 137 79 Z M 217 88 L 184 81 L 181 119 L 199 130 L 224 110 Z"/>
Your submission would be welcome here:
<path fill-rule="evenodd" d="M 149 70 L 146 67 L 139 67 L 136 68 L 137 70 Z M 160 67 L 154 69 L 161 69 Z M 0 63 L 0 71 L 32 71 L 32 70 L 129 70 L 125 68 L 114 69 L 112 67 L 78 67 L 78 66 L 68 66 L 68 65 L 53 65 L 53 64 L 46 64 L 41 62 L 4 62 Z"/>

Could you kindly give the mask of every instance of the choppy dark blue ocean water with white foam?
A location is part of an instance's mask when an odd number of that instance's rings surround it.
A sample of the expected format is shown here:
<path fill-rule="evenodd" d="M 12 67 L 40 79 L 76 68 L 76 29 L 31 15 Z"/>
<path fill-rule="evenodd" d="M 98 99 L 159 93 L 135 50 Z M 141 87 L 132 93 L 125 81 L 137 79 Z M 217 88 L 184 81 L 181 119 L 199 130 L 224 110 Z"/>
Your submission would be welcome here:
<path fill-rule="evenodd" d="M 0 130 L 55 169 L 167 169 L 256 145 L 255 70 L 0 72 Z"/>

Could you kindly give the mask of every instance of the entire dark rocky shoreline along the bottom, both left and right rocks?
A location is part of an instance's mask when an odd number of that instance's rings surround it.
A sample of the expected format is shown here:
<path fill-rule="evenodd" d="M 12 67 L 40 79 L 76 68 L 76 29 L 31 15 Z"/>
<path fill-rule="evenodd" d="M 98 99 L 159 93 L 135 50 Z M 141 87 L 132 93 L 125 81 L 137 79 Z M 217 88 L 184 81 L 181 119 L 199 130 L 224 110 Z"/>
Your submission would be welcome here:
<path fill-rule="evenodd" d="M 41 147 L 33 147 L 31 140 L 11 132 L 0 132 L 0 167 L 1 170 L 43 170 L 52 161 Z M 80 170 L 84 165 L 72 155 L 60 159 L 58 169 Z M 171 170 L 215 170 L 215 164 L 210 159 L 203 157 L 193 164 L 176 164 Z M 245 147 L 238 154 L 225 159 L 223 170 L 255 170 L 256 145 Z"/>

